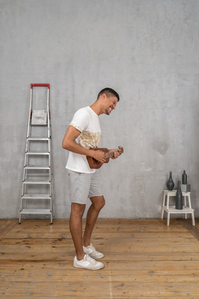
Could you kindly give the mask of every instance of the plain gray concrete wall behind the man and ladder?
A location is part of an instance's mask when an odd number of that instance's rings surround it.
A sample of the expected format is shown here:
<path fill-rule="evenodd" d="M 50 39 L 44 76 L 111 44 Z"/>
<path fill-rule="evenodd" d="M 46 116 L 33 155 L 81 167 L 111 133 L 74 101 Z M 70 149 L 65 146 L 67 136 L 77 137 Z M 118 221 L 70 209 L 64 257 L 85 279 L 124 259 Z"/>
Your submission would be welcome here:
<path fill-rule="evenodd" d="M 55 217 L 70 215 L 73 114 L 104 87 L 120 93 L 100 116 L 102 147 L 124 154 L 100 172 L 100 217 L 160 217 L 169 172 L 186 170 L 199 216 L 199 1 L 0 0 L 1 212 L 18 217 L 30 83 L 50 84 Z"/>

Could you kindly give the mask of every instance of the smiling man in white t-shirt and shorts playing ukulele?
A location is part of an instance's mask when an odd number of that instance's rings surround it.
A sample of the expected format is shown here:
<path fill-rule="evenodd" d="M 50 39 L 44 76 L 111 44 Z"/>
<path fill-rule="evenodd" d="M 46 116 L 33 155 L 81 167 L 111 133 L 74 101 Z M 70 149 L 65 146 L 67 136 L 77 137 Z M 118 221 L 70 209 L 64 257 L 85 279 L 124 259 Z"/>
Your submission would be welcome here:
<path fill-rule="evenodd" d="M 70 233 L 76 251 L 73 265 L 77 268 L 99 270 L 104 267 L 102 262 L 95 260 L 104 255 L 96 251 L 91 244 L 91 234 L 105 200 L 98 173 L 89 167 L 86 156 L 91 156 L 100 163 L 106 161 L 103 151 L 92 149 L 98 147 L 101 136 L 99 115 L 111 114 L 119 100 L 118 93 L 113 89 L 102 89 L 93 105 L 79 109 L 75 113 L 62 142 L 62 147 L 70 151 L 66 168 L 70 176 L 72 197 Z M 120 155 L 118 149 L 109 149 L 108 152 L 114 152 L 112 158 Z M 86 215 L 86 227 L 82 237 L 82 217 L 88 197 L 91 199 L 91 206 Z"/>

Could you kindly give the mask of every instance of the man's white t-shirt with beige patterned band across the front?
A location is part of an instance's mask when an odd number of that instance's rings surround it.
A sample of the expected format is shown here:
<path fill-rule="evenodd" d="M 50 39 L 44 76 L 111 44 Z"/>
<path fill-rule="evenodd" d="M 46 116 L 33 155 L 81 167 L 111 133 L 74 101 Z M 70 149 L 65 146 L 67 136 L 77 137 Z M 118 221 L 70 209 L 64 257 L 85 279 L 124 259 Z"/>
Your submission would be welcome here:
<path fill-rule="evenodd" d="M 88 106 L 77 110 L 70 125 L 81 132 L 75 139 L 77 144 L 87 149 L 98 147 L 102 132 L 99 125 L 99 116 L 95 114 L 91 107 Z M 94 169 L 89 167 L 86 156 L 73 152 L 69 152 L 66 168 L 75 172 L 95 172 Z"/>

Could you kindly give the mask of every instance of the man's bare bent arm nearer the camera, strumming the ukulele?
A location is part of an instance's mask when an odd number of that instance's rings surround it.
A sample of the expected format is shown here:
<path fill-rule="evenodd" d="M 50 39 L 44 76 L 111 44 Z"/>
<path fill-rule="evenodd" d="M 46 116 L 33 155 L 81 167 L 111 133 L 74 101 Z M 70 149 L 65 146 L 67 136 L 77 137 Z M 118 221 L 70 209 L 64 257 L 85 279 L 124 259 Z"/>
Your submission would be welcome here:
<path fill-rule="evenodd" d="M 82 147 L 82 145 L 78 145 L 75 142 L 75 139 L 81 134 L 79 130 L 75 129 L 75 127 L 69 125 L 68 129 L 66 130 L 66 134 L 64 136 L 64 139 L 62 141 L 62 147 L 64 149 L 68 149 L 70 152 L 74 152 L 76 154 L 82 154 L 85 156 L 92 156 L 99 162 L 106 162 L 106 155 L 102 151 L 95 151 L 92 149 L 86 149 L 85 147 Z"/>

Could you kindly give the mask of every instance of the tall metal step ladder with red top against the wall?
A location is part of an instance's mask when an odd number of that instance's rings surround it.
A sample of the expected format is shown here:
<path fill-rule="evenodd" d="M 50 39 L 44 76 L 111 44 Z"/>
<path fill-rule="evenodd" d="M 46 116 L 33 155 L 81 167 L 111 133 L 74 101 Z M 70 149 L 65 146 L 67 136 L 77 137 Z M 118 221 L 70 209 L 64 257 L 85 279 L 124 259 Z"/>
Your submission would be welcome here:
<path fill-rule="evenodd" d="M 44 91 L 43 102 L 44 98 L 46 98 L 46 87 L 48 88 L 46 109 L 32 109 L 33 87 L 39 87 L 39 89 L 45 87 L 45 89 L 42 89 Z M 23 167 L 19 224 L 21 224 L 21 218 L 25 217 L 50 217 L 50 224 L 53 224 L 49 93 L 50 84 L 30 84 L 30 111 Z"/>

